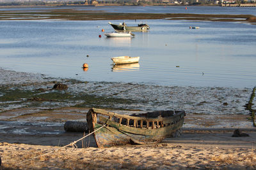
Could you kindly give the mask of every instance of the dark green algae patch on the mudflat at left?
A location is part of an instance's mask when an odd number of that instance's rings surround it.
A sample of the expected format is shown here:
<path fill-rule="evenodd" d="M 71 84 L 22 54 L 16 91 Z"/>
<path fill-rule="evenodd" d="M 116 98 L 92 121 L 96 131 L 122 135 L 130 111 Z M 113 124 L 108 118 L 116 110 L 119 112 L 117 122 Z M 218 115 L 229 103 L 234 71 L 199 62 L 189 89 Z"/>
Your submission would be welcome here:
<path fill-rule="evenodd" d="M 52 89 L 23 89 L 22 88 L 0 88 L 0 112 L 12 109 L 13 104 L 19 103 L 19 107 L 33 108 L 58 108 L 58 107 L 106 107 L 122 108 L 123 105 L 136 103 L 135 100 L 122 97 L 101 96 L 90 93 L 72 93 L 68 90 Z M 7 107 L 8 106 L 8 107 Z M 14 107 L 14 106 L 13 106 Z M 8 109 L 9 108 L 9 109 Z M 17 108 L 16 106 L 14 108 Z"/>

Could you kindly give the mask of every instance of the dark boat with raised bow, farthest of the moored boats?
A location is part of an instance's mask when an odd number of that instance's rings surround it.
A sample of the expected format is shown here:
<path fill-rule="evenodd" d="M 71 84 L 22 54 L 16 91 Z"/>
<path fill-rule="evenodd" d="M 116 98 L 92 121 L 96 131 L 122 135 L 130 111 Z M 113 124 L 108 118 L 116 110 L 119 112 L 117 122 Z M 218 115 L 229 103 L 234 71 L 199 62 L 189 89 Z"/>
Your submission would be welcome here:
<path fill-rule="evenodd" d="M 123 24 L 112 24 L 108 22 L 116 31 L 147 31 L 149 26 L 147 24 L 138 24 L 138 26 L 127 26 L 125 22 Z"/>

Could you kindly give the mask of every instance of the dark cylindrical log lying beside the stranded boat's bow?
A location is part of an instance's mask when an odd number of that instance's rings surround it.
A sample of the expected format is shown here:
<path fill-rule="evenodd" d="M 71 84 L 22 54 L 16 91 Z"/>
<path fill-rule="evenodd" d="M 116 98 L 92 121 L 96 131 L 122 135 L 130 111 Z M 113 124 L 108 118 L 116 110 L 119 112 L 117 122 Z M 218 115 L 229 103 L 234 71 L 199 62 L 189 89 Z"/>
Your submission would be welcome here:
<path fill-rule="evenodd" d="M 89 132 L 87 122 L 67 121 L 64 124 L 64 129 L 66 132 Z"/>

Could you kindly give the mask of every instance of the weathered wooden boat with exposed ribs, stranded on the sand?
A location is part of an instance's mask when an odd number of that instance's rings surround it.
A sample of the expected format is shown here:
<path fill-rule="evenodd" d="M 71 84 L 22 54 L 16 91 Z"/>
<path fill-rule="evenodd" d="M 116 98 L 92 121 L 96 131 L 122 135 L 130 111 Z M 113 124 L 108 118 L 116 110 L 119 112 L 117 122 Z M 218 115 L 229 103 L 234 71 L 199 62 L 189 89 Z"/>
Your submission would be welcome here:
<path fill-rule="evenodd" d="M 141 114 L 120 115 L 92 108 L 86 115 L 90 132 L 99 148 L 159 143 L 182 127 L 185 111 L 154 111 Z M 98 129 L 98 131 L 96 131 Z"/>

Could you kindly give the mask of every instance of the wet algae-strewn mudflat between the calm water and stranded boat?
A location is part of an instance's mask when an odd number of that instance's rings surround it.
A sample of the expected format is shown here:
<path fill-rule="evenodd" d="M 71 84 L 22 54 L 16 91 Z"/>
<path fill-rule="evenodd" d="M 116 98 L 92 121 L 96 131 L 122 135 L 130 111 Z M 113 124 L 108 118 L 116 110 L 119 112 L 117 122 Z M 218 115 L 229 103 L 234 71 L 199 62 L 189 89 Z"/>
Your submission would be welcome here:
<path fill-rule="evenodd" d="M 245 119 L 250 117 L 250 111 L 245 108 L 252 94 L 250 88 L 77 81 L 3 69 L 0 72 L 0 121 L 61 124 L 67 120 L 85 121 L 86 111 L 92 107 L 118 110 L 124 114 L 185 110 L 187 115 L 191 115 L 190 120 L 198 119 L 196 124 L 208 127 L 226 124 L 225 118 L 233 117 L 230 115 L 240 115 Z M 55 83 L 68 85 L 68 89 L 54 90 L 52 87 Z M 219 117 L 221 122 L 204 122 L 205 117 Z M 235 122 L 230 122 L 230 125 L 238 123 L 237 118 L 232 119 Z M 193 126 L 194 123 L 188 122 L 187 125 Z M 250 120 L 248 124 L 251 125 Z"/>

